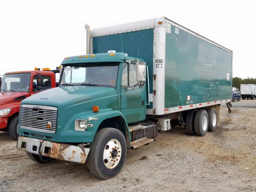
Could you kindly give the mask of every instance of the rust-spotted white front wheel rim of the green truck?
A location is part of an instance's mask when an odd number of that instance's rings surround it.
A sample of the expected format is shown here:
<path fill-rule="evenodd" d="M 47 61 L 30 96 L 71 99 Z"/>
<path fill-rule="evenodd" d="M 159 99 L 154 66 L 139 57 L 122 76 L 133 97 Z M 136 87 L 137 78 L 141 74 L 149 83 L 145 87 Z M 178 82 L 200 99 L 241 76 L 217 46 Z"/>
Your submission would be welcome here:
<path fill-rule="evenodd" d="M 104 148 L 104 165 L 109 169 L 116 167 L 120 162 L 121 155 L 122 148 L 120 142 L 116 139 L 110 140 Z"/>

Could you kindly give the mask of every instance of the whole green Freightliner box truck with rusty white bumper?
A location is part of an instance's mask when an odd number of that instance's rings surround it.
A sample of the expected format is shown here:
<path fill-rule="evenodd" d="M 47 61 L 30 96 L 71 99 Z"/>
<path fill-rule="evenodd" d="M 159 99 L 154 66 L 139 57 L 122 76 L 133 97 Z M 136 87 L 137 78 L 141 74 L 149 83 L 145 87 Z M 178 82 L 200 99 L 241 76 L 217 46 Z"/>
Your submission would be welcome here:
<path fill-rule="evenodd" d="M 221 103 L 231 112 L 231 50 L 164 17 L 86 31 L 87 53 L 62 61 L 58 87 L 21 103 L 17 148 L 30 159 L 87 162 L 109 179 L 127 148 L 177 125 L 204 136 Z"/>

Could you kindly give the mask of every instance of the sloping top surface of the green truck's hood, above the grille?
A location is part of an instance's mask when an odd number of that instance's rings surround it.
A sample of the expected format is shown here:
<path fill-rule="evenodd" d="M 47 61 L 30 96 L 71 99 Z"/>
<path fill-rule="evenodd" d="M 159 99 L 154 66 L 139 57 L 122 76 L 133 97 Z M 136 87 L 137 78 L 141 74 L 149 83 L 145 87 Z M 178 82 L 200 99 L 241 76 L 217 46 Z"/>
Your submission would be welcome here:
<path fill-rule="evenodd" d="M 117 95 L 117 93 L 110 87 L 61 86 L 35 94 L 24 100 L 22 104 L 70 106 L 111 95 Z"/>

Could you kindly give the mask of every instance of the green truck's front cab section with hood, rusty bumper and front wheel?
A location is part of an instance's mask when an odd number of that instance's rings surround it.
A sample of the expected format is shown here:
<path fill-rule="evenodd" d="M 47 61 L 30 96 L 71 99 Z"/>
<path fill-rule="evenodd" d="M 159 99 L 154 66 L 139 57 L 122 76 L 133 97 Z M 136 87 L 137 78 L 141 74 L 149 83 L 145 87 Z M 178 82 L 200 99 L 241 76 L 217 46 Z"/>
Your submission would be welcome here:
<path fill-rule="evenodd" d="M 99 137 L 108 140 L 98 143 L 100 150 L 105 148 L 101 166 L 113 171 L 99 177 L 111 178 L 120 171 L 114 167 L 122 168 L 126 148 L 136 148 L 133 141 L 151 142 L 158 134 L 153 123 L 136 125 L 146 118 L 146 63 L 124 53 L 104 53 L 68 57 L 62 66 L 58 88 L 21 102 L 18 149 L 36 162 L 84 163 L 89 150 L 97 150 L 92 143 Z M 144 134 L 132 137 L 131 130 L 138 129 Z"/>

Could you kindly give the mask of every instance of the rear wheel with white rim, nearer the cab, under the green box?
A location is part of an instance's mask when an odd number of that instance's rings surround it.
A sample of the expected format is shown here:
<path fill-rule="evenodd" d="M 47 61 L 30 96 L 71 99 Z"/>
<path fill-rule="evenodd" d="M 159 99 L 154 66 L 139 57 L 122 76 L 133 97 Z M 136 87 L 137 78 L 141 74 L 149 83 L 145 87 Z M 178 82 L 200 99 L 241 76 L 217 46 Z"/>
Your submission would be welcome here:
<path fill-rule="evenodd" d="M 195 132 L 198 136 L 204 136 L 208 130 L 208 114 L 206 110 L 198 110 L 195 116 Z"/>

